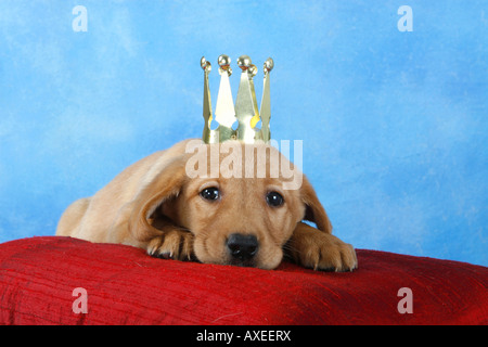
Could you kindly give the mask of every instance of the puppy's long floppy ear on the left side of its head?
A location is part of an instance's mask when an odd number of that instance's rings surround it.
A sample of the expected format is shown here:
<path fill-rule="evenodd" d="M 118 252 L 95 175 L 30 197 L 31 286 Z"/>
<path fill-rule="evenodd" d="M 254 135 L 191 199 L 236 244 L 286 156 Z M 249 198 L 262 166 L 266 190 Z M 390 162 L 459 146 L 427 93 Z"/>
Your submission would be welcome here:
<path fill-rule="evenodd" d="M 150 223 L 150 219 L 160 205 L 180 193 L 187 181 L 185 163 L 184 155 L 175 157 L 137 195 L 129 220 L 130 233 L 136 240 L 147 242 L 162 234 Z"/>

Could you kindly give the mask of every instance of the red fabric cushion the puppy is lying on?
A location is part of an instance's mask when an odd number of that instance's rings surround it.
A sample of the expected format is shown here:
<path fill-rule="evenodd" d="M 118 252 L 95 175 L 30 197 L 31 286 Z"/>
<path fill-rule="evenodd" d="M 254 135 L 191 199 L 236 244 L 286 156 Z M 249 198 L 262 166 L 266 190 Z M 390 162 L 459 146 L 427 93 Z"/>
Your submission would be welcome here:
<path fill-rule="evenodd" d="M 358 249 L 354 272 L 151 258 L 70 237 L 0 244 L 0 324 L 487 324 L 488 268 Z M 88 313 L 73 312 L 87 291 Z M 413 313 L 399 313 L 401 287 Z"/>

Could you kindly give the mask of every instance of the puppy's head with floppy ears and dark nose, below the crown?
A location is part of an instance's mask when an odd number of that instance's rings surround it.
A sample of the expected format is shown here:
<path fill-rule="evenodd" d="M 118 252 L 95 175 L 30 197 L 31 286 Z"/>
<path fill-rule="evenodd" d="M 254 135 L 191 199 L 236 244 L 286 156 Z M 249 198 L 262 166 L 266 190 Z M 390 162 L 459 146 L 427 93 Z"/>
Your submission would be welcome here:
<path fill-rule="evenodd" d="M 308 180 L 267 144 L 201 144 L 175 157 L 146 190 L 139 228 L 165 218 L 190 230 L 202 262 L 273 269 L 297 222 L 332 230 Z"/>

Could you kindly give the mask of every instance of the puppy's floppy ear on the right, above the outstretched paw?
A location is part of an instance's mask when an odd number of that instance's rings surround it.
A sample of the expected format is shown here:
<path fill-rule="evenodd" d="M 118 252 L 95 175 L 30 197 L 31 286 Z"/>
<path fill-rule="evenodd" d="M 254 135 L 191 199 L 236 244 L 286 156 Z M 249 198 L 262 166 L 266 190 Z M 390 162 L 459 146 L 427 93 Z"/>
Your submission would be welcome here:
<path fill-rule="evenodd" d="M 300 189 L 301 201 L 305 204 L 305 220 L 312 221 L 317 224 L 317 229 L 332 233 L 332 224 L 329 220 L 328 214 L 317 197 L 316 191 L 304 175 L 304 181 Z"/>

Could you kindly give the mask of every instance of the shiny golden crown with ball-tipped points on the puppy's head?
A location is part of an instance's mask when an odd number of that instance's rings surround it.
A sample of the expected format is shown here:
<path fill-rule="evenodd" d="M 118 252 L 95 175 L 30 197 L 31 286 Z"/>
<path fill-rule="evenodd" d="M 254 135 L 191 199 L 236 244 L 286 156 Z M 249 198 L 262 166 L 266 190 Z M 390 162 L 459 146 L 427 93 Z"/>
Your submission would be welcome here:
<path fill-rule="evenodd" d="M 265 62 L 265 81 L 260 111 L 258 111 L 253 81 L 254 76 L 257 74 L 257 68 L 252 64 L 251 57 L 247 55 L 241 55 L 237 59 L 237 65 L 242 69 L 242 74 L 234 107 L 229 81 L 229 77 L 232 74 L 230 62 L 230 57 L 224 54 L 220 55 L 218 59 L 220 87 L 217 97 L 217 107 L 215 110 L 215 120 L 219 126 L 215 130 L 210 128 L 214 118 L 211 113 L 210 89 L 208 85 L 208 75 L 211 70 L 211 65 L 207 62 L 205 56 L 202 56 L 200 62 L 205 74 L 203 110 L 205 127 L 203 140 L 205 143 L 219 143 L 231 139 L 241 140 L 245 143 L 254 143 L 259 140 L 268 143 L 271 138 L 269 130 L 269 120 L 271 118 L 269 73 L 274 66 L 273 60 L 268 57 Z M 235 120 L 237 120 L 239 125 L 234 130 L 232 129 L 232 125 Z M 257 127 L 259 120 L 261 120 L 260 129 Z"/>

